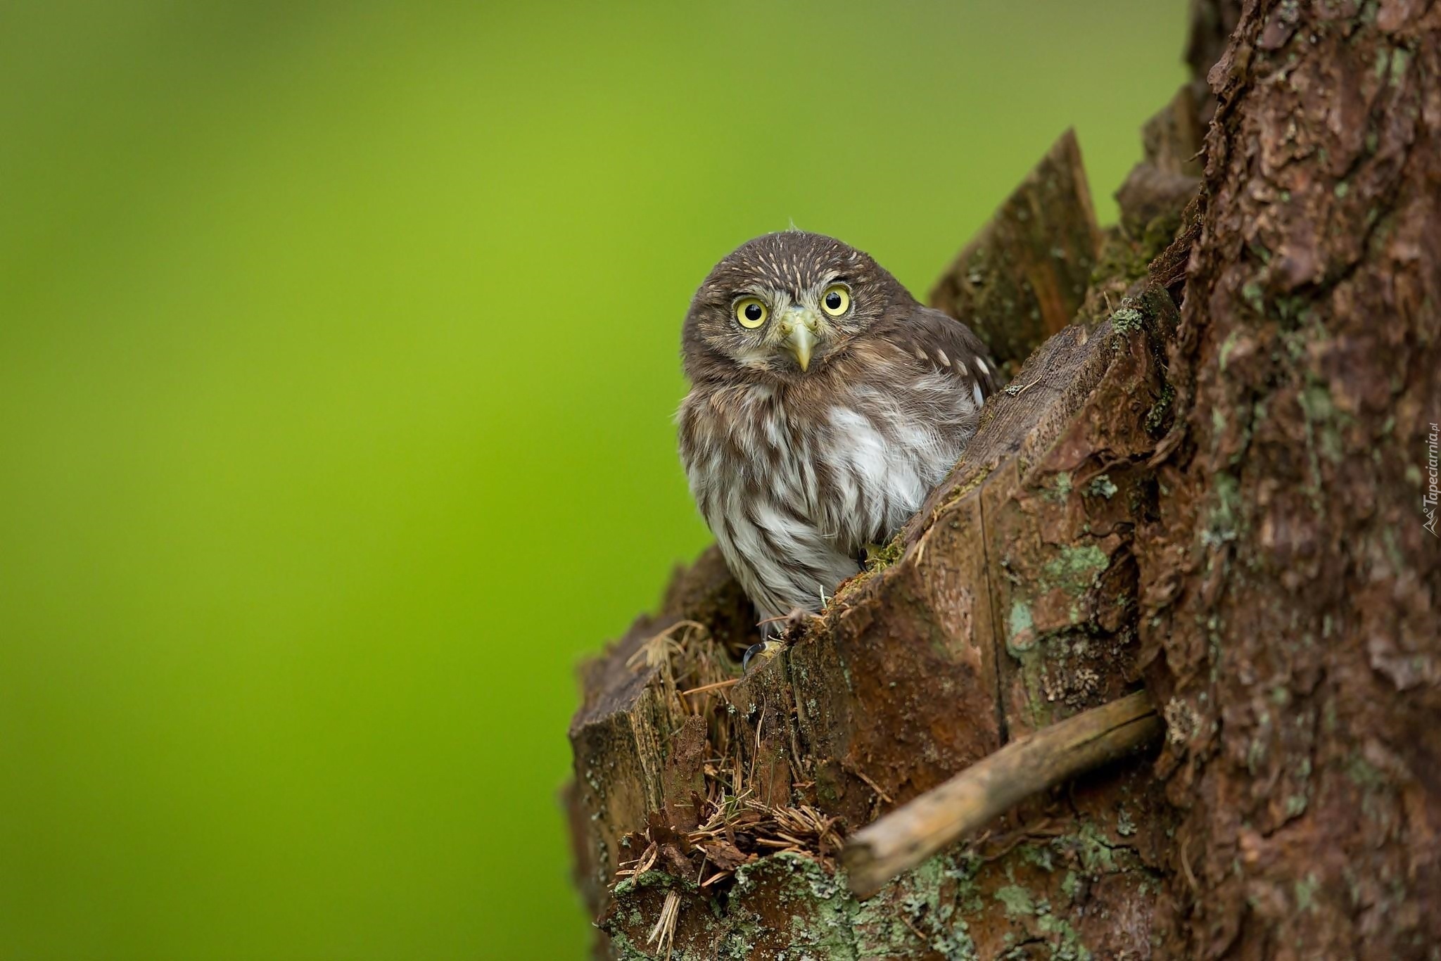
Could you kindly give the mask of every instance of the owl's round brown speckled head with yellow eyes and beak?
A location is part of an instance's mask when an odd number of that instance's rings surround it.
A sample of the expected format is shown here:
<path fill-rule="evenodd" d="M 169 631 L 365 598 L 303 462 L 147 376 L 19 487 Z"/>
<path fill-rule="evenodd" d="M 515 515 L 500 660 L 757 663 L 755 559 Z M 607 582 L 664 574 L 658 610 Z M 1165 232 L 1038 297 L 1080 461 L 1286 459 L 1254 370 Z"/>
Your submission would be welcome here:
<path fill-rule="evenodd" d="M 680 339 L 692 382 L 795 380 L 824 369 L 915 300 L 879 264 L 820 233 L 742 243 L 700 284 Z"/>

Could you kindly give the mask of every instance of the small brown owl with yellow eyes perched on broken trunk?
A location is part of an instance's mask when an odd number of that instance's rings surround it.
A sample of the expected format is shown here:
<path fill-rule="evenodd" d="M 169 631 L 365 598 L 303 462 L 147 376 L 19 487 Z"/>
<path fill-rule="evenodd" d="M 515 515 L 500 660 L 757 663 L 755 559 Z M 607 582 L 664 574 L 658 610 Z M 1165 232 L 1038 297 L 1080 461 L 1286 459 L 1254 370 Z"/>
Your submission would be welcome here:
<path fill-rule="evenodd" d="M 945 477 L 997 386 L 965 324 L 818 233 L 744 243 L 696 291 L 690 493 L 762 625 L 817 612 Z"/>

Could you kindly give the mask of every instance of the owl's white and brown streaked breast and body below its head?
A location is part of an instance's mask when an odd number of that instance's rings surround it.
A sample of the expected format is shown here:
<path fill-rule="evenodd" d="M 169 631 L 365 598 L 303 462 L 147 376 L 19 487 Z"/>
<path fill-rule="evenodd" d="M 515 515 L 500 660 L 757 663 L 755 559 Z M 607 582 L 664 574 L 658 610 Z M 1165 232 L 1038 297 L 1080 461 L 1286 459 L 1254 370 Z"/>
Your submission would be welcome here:
<path fill-rule="evenodd" d="M 955 462 L 974 425 L 945 377 L 846 385 L 816 403 L 764 385 L 692 392 L 680 411 L 692 494 L 761 617 L 818 609 Z"/>

